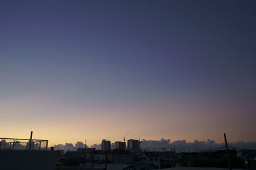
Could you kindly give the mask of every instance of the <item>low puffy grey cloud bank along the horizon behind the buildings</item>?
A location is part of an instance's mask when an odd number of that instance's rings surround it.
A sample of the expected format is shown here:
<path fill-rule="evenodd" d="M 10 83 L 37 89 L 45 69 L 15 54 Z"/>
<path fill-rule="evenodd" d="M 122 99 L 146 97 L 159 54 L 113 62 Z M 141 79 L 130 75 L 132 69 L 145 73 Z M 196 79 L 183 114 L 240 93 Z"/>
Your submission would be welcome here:
<path fill-rule="evenodd" d="M 100 144 L 94 144 L 91 148 L 96 148 L 100 150 Z M 188 151 L 196 151 L 196 150 L 213 150 L 218 148 L 223 148 L 225 143 L 215 143 L 214 140 L 207 139 L 207 141 L 198 141 L 195 140 L 194 142 L 187 142 L 186 140 L 178 140 L 171 142 L 170 139 L 160 139 L 160 140 L 146 140 L 143 139 L 141 141 L 141 149 L 143 150 L 164 150 L 170 151 L 175 150 L 176 152 L 188 152 Z M 256 141 L 252 142 L 244 142 L 238 141 L 236 143 L 228 143 L 230 148 L 237 148 L 237 149 L 256 149 Z M 88 146 L 87 146 L 88 147 Z M 65 145 L 59 144 L 54 145 L 54 150 L 70 150 L 74 151 L 77 148 L 84 148 L 84 143 L 81 141 L 77 141 L 75 145 L 72 143 L 66 143 Z"/>

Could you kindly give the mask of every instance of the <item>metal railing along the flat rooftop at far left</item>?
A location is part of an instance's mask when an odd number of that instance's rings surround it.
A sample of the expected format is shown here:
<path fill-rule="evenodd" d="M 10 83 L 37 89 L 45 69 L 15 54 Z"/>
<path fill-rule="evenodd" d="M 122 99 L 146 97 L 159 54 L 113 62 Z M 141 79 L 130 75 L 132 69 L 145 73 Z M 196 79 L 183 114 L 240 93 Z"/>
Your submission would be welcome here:
<path fill-rule="evenodd" d="M 48 140 L 0 138 L 0 150 L 47 150 Z"/>

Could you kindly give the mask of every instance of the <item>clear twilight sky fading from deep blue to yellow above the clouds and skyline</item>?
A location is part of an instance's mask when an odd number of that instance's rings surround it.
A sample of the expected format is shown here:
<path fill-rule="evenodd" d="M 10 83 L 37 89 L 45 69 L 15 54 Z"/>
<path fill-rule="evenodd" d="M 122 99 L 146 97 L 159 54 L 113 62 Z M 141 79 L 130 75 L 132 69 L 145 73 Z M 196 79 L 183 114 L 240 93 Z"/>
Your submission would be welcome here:
<path fill-rule="evenodd" d="M 256 141 L 255 8 L 1 1 L 1 137 Z"/>

